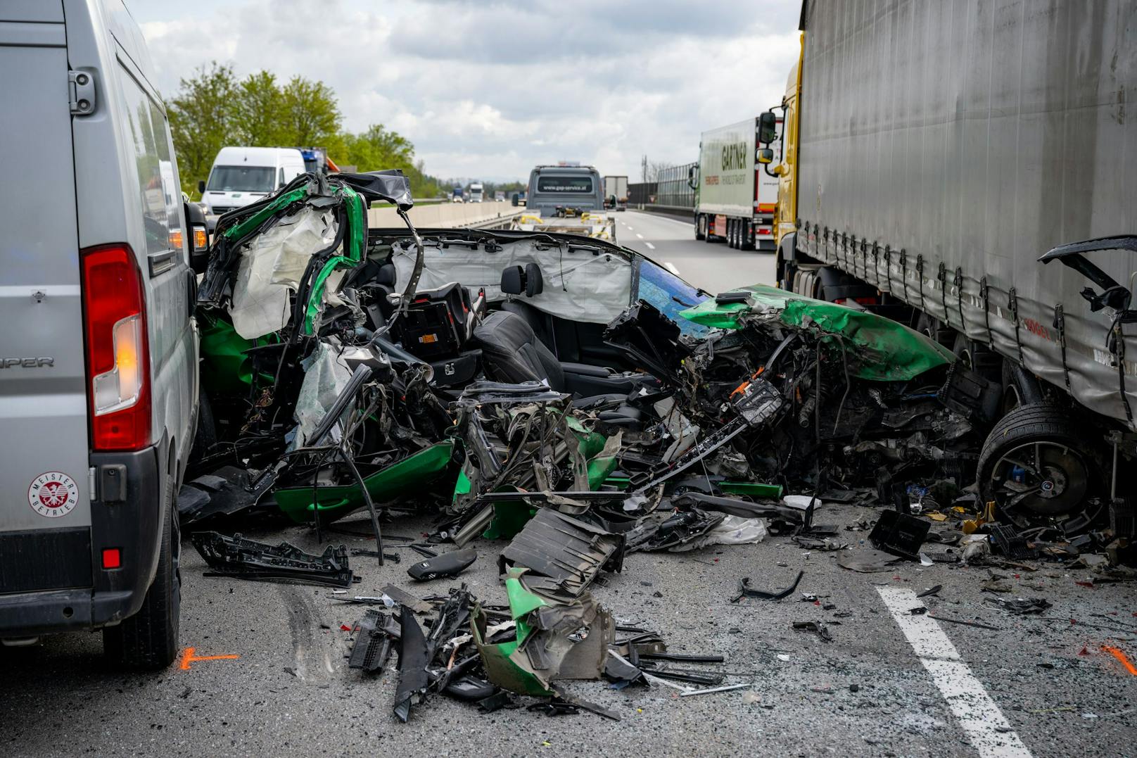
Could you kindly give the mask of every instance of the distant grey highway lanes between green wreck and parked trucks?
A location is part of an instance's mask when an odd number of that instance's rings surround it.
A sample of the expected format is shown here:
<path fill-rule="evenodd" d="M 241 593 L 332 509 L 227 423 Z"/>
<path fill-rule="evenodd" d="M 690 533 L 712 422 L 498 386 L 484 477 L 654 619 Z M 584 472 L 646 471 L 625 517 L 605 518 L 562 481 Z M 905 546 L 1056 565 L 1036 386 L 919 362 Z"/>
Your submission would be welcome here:
<path fill-rule="evenodd" d="M 774 283 L 774 254 L 732 250 L 725 242 L 695 239 L 690 221 L 636 211 L 617 212 L 616 241 L 717 295 L 744 285 Z"/>

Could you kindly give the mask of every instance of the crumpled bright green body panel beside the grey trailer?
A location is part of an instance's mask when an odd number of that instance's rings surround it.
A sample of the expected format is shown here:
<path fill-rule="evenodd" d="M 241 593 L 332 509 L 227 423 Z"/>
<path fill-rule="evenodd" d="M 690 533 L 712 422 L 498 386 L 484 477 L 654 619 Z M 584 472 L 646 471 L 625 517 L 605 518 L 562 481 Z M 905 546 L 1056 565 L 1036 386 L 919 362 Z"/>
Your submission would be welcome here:
<path fill-rule="evenodd" d="M 907 381 L 929 369 L 955 362 L 955 355 L 927 335 L 891 319 L 854 308 L 815 300 L 767 285 L 742 287 L 754 299 L 746 303 L 716 303 L 706 299 L 680 315 L 695 323 L 719 329 L 740 329 L 742 316 L 754 312 L 777 311 L 782 323 L 799 329 L 816 328 L 828 337 L 830 357 L 841 360 L 844 340 L 849 351 L 849 372 L 870 381 Z"/>

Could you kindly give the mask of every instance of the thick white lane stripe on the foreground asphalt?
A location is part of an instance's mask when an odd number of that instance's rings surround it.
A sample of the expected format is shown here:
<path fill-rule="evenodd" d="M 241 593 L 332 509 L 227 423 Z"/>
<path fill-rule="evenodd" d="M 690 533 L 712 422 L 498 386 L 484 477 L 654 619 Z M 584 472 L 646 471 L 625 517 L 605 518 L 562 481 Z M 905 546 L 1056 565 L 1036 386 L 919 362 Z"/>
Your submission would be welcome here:
<path fill-rule="evenodd" d="M 923 605 L 916 593 L 899 587 L 877 587 L 877 592 L 979 755 L 985 758 L 1030 758 L 1027 745 L 960 658 L 936 619 L 908 612 Z"/>

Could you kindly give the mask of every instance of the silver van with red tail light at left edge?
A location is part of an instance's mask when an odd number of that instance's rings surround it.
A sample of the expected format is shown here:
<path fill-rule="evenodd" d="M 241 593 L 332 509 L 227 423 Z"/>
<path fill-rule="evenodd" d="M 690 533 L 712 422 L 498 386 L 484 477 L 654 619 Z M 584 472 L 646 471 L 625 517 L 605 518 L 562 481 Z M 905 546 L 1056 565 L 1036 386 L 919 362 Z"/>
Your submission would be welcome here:
<path fill-rule="evenodd" d="M 122 0 L 3 0 L 0 71 L 0 640 L 101 628 L 163 667 L 205 231 Z"/>

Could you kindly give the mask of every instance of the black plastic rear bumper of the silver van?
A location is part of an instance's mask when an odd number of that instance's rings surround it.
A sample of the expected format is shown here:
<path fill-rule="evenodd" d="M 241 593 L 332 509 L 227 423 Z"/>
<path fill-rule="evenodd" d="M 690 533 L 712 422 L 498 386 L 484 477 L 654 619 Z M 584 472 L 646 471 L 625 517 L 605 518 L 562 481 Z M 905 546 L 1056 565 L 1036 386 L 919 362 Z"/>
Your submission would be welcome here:
<path fill-rule="evenodd" d="M 158 446 L 134 453 L 91 455 L 100 492 L 99 500 L 91 503 L 90 550 L 85 554 L 76 551 L 73 555 L 57 557 L 86 562 L 88 566 L 75 568 L 90 576 L 90 586 L 30 586 L 26 577 L 15 574 L 18 566 L 5 566 L 7 576 L 0 577 L 3 579 L 0 584 L 7 585 L 0 586 L 0 637 L 98 628 L 138 612 L 158 566 L 163 518 L 171 511 L 164 502 L 165 471 L 160 460 Z M 101 492 L 106 471 L 115 472 L 111 479 L 125 472 L 125 487 L 117 493 Z M 42 534 L 31 533 L 26 537 Z M 18 537 L 0 533 L 0 539 Z M 106 549 L 119 551 L 119 568 L 102 568 Z"/>

